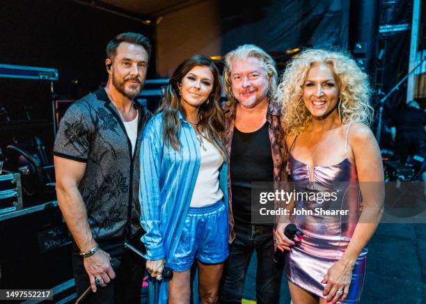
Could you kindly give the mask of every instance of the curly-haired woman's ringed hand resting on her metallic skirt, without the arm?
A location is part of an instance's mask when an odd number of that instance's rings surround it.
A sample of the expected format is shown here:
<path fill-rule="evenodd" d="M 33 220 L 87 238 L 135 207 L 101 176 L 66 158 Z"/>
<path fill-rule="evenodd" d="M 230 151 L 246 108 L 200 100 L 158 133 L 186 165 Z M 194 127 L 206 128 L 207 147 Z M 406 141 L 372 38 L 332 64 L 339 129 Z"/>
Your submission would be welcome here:
<path fill-rule="evenodd" d="M 345 301 L 349 293 L 349 285 L 351 285 L 352 269 L 354 269 L 354 263 L 344 259 L 339 259 L 329 268 L 321 282 L 326 284 L 322 294 L 327 296 L 327 302 L 336 303 L 339 299 Z"/>

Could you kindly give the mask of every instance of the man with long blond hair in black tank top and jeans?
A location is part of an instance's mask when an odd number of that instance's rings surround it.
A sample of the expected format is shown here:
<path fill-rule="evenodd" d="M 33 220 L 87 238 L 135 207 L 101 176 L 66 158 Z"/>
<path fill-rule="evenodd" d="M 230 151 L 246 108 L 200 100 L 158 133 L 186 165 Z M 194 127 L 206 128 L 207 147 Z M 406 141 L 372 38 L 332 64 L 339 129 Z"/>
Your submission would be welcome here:
<path fill-rule="evenodd" d="M 274 60 L 255 45 L 242 45 L 226 55 L 223 72 L 230 210 L 230 256 L 221 289 L 221 303 L 241 303 L 244 278 L 256 250 L 258 303 L 278 303 L 281 275 L 274 263 L 273 223 L 251 219 L 253 182 L 278 187 L 287 163 L 284 129 L 274 101 L 278 74 Z"/>

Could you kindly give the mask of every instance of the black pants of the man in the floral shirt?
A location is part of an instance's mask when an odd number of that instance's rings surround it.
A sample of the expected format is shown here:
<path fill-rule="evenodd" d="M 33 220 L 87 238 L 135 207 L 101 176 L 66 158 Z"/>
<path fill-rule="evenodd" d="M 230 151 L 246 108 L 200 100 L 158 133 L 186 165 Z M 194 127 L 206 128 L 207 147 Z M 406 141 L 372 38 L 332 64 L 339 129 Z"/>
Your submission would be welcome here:
<path fill-rule="evenodd" d="M 120 261 L 120 265 L 114 269 L 116 278 L 111 280 L 107 287 L 97 287 L 95 294 L 90 293 L 84 303 L 141 303 L 141 287 L 145 273 L 145 259 L 135 255 L 129 250 L 124 250 L 123 242 L 101 244 L 100 248 Z M 72 269 L 74 271 L 77 296 L 80 296 L 90 281 L 83 258 L 79 257 L 77 246 L 73 246 Z"/>

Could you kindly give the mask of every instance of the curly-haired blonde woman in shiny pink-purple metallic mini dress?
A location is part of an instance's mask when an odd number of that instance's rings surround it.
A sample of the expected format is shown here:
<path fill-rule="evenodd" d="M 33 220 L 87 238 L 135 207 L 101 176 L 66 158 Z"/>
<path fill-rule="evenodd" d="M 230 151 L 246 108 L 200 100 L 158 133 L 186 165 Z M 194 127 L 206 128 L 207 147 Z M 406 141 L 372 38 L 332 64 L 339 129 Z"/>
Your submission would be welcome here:
<path fill-rule="evenodd" d="M 287 239 L 287 224 L 278 224 L 292 301 L 358 303 L 366 245 L 384 202 L 381 154 L 366 125 L 372 119 L 368 77 L 345 54 L 310 49 L 290 63 L 278 91 L 292 181 L 298 191 L 336 193 L 328 202 L 294 200 L 291 213 L 304 211 L 290 217 L 301 239 Z"/>

